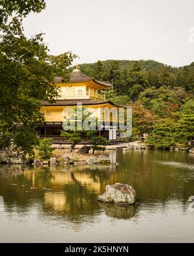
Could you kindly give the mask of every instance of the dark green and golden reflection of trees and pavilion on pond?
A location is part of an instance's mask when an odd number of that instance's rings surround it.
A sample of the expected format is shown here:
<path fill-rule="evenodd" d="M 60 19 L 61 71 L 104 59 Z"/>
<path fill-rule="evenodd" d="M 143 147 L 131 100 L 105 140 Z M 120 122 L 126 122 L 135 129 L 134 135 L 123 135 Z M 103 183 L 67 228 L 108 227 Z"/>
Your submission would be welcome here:
<path fill-rule="evenodd" d="M 72 223 L 71 228 L 76 230 L 83 223 L 91 226 L 105 221 L 105 216 L 138 222 L 141 215 L 146 215 L 146 220 L 157 214 L 164 218 L 169 209 L 188 214 L 188 198 L 194 195 L 193 157 L 186 152 L 149 150 L 115 154 L 111 152 L 111 157 L 113 161 L 116 157 L 119 165 L 111 167 L 1 165 L 0 196 L 5 213 L 9 219 L 20 213 L 18 219 L 29 215 L 41 223 L 54 223 L 52 218 L 57 218 Z M 125 207 L 97 201 L 105 186 L 116 182 L 135 188 L 137 205 Z M 174 216 L 171 218 L 173 221 Z M 7 216 L 1 220 L 7 220 Z"/>

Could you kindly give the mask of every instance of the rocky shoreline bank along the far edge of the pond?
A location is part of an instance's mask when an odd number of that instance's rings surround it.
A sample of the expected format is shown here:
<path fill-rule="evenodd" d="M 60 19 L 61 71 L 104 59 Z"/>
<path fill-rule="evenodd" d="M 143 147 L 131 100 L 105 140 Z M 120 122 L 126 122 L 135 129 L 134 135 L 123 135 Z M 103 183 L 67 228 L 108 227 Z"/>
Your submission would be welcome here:
<path fill-rule="evenodd" d="M 129 143 L 122 143 L 119 145 L 107 145 L 105 146 L 105 151 L 96 151 L 96 154 L 82 154 L 77 152 L 83 145 L 76 145 L 74 151 L 72 153 L 68 153 L 69 145 L 52 145 L 55 150 L 53 151 L 52 157 L 56 158 L 56 165 L 76 165 L 76 166 L 84 166 L 87 161 L 92 161 L 92 159 L 97 159 L 100 156 L 104 156 L 106 152 L 114 151 L 114 150 L 122 150 L 122 152 L 129 152 L 131 150 L 160 150 L 160 151 L 170 151 L 170 152 L 188 152 L 188 154 L 194 155 L 194 148 L 190 146 L 187 148 L 181 146 L 171 146 L 168 149 L 159 149 L 153 148 L 153 146 L 146 145 L 146 143 L 142 143 L 142 141 L 133 141 Z M 69 157 L 69 160 L 64 160 L 63 157 Z M 105 159 L 104 159 L 105 160 Z M 97 160 L 96 160 L 97 161 Z M 107 161 L 107 160 L 106 160 Z M 4 151 L 0 152 L 0 164 L 5 165 L 23 165 L 23 164 L 34 164 L 36 165 L 49 165 L 50 159 L 41 159 L 38 157 L 36 152 L 33 159 L 29 159 L 27 157 L 23 157 L 21 155 L 17 155 L 16 152 Z M 90 164 L 90 163 L 89 163 Z M 116 163 L 113 163 L 116 164 Z"/>

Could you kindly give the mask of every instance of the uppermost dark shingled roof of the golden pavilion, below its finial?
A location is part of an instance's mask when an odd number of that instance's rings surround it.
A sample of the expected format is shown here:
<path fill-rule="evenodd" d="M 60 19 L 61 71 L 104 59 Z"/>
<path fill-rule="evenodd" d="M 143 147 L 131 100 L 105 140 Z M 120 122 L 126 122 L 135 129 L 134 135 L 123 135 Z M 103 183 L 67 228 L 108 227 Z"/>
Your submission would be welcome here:
<path fill-rule="evenodd" d="M 105 86 L 105 87 L 111 87 L 113 86 L 112 84 L 107 84 L 104 82 L 100 82 L 98 80 L 96 80 L 95 78 L 89 77 L 85 74 L 83 74 L 80 69 L 76 68 L 74 69 L 69 76 L 69 82 L 70 83 L 78 83 L 78 82 L 88 82 L 93 80 L 94 82 L 96 82 L 96 84 L 99 84 L 100 86 Z M 56 76 L 56 78 L 54 79 L 54 82 L 57 83 L 63 83 L 63 78 L 61 76 Z"/>

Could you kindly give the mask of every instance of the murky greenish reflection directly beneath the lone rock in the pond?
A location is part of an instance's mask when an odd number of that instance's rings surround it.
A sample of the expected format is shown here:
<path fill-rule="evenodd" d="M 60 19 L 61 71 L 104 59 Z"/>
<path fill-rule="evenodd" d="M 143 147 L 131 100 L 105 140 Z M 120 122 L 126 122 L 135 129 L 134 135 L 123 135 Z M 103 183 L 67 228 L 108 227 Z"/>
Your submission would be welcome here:
<path fill-rule="evenodd" d="M 134 205 L 116 205 L 100 203 L 100 207 L 105 210 L 109 217 L 113 218 L 132 218 L 135 215 Z"/>

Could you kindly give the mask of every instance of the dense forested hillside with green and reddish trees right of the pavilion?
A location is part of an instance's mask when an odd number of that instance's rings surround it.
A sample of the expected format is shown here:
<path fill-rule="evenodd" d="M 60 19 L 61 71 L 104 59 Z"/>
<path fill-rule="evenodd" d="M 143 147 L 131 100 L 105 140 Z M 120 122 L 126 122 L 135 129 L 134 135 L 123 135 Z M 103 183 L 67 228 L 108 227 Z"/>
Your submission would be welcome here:
<path fill-rule="evenodd" d="M 113 84 L 107 99 L 133 108 L 133 137 L 156 148 L 189 146 L 194 139 L 194 62 L 171 67 L 154 60 L 81 64 L 85 75 Z"/>

